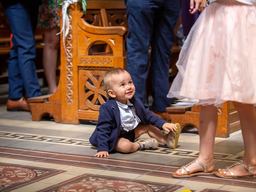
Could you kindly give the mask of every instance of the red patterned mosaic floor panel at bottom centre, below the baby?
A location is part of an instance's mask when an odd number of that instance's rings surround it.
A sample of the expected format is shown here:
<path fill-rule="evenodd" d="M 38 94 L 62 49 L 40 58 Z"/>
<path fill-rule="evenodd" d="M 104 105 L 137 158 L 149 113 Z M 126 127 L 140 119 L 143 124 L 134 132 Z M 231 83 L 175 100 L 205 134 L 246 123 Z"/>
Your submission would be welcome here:
<path fill-rule="evenodd" d="M 167 185 L 156 182 L 144 182 L 140 180 L 128 180 L 118 177 L 95 176 L 84 174 L 82 176 L 62 182 L 53 187 L 40 190 L 40 192 L 67 192 L 67 191 L 91 191 L 91 192 L 172 192 L 180 188 L 179 185 Z"/>

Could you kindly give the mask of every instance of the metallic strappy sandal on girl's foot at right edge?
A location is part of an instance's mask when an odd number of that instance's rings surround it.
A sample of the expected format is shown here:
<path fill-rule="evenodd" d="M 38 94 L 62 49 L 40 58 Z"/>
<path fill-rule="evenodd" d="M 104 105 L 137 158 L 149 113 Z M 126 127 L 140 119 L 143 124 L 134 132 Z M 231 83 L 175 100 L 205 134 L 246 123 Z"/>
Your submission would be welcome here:
<path fill-rule="evenodd" d="M 230 170 L 230 168 L 234 167 L 234 166 L 237 166 L 237 165 L 242 165 L 247 171 L 248 171 L 248 176 L 235 176 L 234 173 Z M 254 171 L 256 171 L 256 166 L 255 167 L 248 167 L 246 164 L 243 163 L 243 161 L 239 161 L 239 162 L 236 162 L 230 166 L 227 166 L 224 168 L 224 172 L 223 174 L 221 174 L 220 172 L 216 171 L 215 172 L 215 175 L 217 177 L 220 177 L 220 178 L 226 178 L 226 179 L 234 179 L 234 178 L 248 178 L 248 177 L 256 177 L 256 175 L 253 174 Z M 227 175 L 227 171 L 230 173 L 231 176 L 226 176 Z"/>

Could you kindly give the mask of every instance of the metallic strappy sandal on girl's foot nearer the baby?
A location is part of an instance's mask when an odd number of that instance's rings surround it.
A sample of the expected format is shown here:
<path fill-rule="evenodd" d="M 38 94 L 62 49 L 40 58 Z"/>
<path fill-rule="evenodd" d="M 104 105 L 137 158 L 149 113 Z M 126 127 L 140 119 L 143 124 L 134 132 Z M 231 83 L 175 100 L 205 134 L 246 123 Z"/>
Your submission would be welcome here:
<path fill-rule="evenodd" d="M 187 166 L 191 165 L 192 163 L 196 162 L 197 164 L 199 164 L 200 166 L 202 166 L 204 168 L 204 171 L 198 171 L 198 172 L 194 172 L 194 173 L 190 173 L 189 169 L 187 168 Z M 193 160 L 192 162 L 190 162 L 189 164 L 186 164 L 181 168 L 181 175 L 177 175 L 176 173 L 173 173 L 172 176 L 175 178 L 189 178 L 189 177 L 194 177 L 194 176 L 206 176 L 206 175 L 214 175 L 214 172 L 208 172 L 208 169 L 214 165 L 214 161 L 212 161 L 209 164 L 203 164 L 201 162 L 198 161 L 198 159 Z M 184 175 L 184 171 L 186 170 L 186 172 L 188 173 L 187 175 Z"/>

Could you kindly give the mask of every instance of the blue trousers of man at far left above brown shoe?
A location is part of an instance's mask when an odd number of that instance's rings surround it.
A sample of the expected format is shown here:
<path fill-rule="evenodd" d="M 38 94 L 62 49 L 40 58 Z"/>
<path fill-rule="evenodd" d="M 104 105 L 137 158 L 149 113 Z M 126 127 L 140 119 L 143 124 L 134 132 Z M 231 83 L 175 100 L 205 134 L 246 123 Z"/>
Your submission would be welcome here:
<path fill-rule="evenodd" d="M 8 61 L 9 99 L 22 97 L 25 88 L 28 98 L 40 96 L 36 74 L 36 44 L 34 30 L 38 18 L 38 0 L 3 3 L 12 30 L 12 48 Z"/>

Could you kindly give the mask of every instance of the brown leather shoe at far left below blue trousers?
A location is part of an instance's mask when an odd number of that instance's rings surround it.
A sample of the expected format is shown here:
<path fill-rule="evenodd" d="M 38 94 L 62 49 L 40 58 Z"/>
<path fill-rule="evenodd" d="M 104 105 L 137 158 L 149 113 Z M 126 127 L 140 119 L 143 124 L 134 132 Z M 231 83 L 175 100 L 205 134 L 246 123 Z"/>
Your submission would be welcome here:
<path fill-rule="evenodd" d="M 8 99 L 6 106 L 8 111 L 30 111 L 30 106 L 24 97 L 18 101 Z"/>

